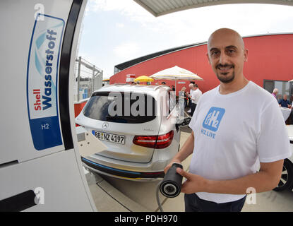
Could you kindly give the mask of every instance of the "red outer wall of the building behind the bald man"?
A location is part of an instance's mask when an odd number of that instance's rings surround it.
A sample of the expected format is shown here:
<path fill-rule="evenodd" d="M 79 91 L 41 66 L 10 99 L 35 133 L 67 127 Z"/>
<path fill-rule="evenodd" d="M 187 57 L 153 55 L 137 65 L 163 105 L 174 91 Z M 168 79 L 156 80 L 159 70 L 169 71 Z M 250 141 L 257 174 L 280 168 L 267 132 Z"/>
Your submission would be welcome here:
<path fill-rule="evenodd" d="M 244 43 L 249 49 L 249 61 L 244 65 L 244 75 L 250 81 L 263 87 L 264 80 L 289 81 L 293 78 L 291 67 L 293 64 L 293 34 L 244 37 Z M 110 84 L 126 83 L 127 74 L 135 74 L 136 77 L 150 76 L 157 71 L 180 66 L 203 78 L 204 81 L 196 81 L 196 83 L 205 93 L 220 84 L 208 64 L 206 53 L 207 47 L 206 44 L 203 44 L 165 54 L 116 73 L 110 78 Z M 162 81 L 155 81 L 151 84 L 155 85 L 157 82 Z M 185 84 L 177 84 L 177 90 L 181 90 L 183 86 L 189 90 L 189 81 L 185 82 Z M 166 81 L 166 83 L 169 86 L 174 85 L 174 81 Z"/>

